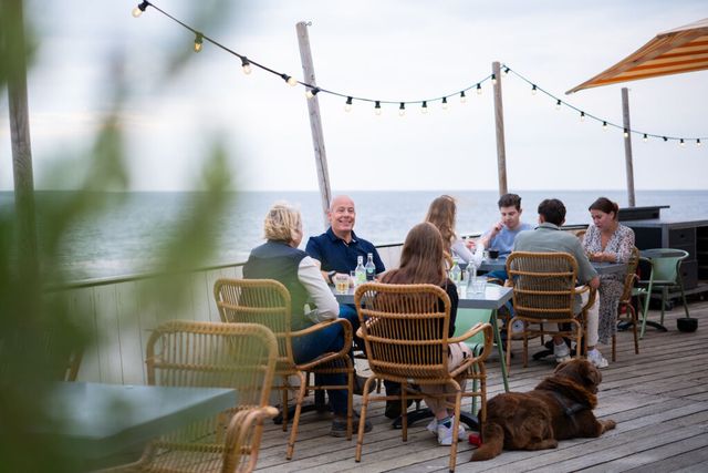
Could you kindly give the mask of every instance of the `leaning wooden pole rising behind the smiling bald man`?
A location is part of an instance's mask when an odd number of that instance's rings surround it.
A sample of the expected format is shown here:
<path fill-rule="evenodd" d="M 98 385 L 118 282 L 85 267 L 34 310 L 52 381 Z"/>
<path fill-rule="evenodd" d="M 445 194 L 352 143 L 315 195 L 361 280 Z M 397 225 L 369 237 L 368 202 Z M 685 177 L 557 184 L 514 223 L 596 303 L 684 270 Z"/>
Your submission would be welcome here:
<path fill-rule="evenodd" d="M 303 82 L 316 85 L 314 79 L 314 64 L 312 52 L 310 51 L 310 35 L 308 34 L 308 23 L 304 21 L 295 25 L 298 30 L 298 43 L 300 44 L 300 61 L 302 62 Z M 324 148 L 324 133 L 322 132 L 322 120 L 320 116 L 320 101 L 315 94 L 308 99 L 308 112 L 310 114 L 310 130 L 312 131 L 312 145 L 314 146 L 314 161 L 317 167 L 317 182 L 320 183 L 320 198 L 322 199 L 322 212 L 324 217 L 324 228 L 330 226 L 327 210 L 332 199 L 330 188 L 330 172 L 327 171 L 327 154 Z"/>

